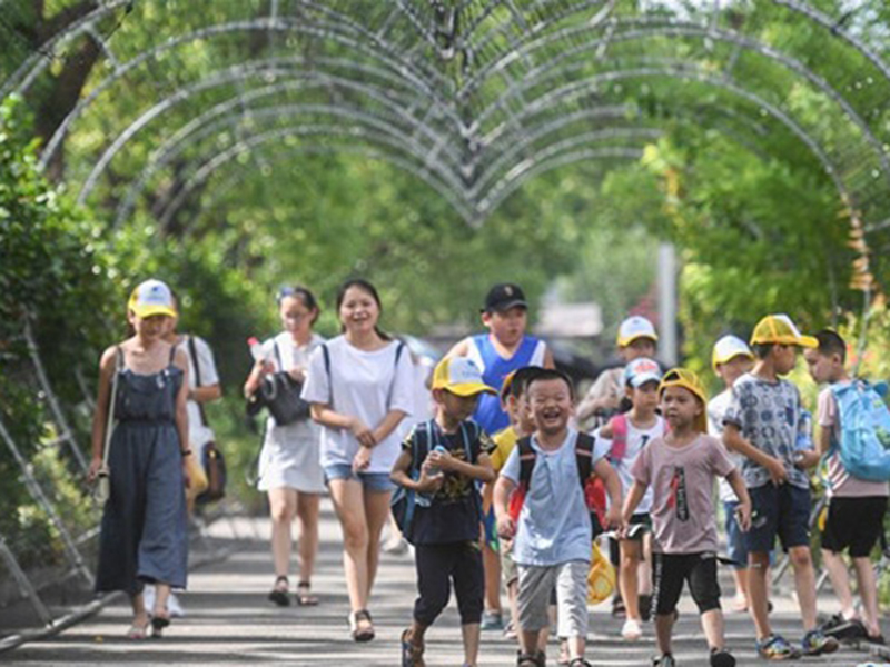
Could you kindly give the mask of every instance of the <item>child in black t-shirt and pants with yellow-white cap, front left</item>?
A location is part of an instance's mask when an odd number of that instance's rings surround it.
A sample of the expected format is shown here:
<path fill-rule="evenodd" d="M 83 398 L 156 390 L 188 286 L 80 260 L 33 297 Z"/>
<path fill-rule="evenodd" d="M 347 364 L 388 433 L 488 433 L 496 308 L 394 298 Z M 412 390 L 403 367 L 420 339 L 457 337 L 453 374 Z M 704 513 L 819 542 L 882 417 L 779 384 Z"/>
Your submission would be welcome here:
<path fill-rule="evenodd" d="M 405 538 L 415 547 L 418 597 L 402 634 L 403 667 L 424 664 L 424 634 L 448 604 L 454 585 L 464 640 L 464 665 L 476 665 L 484 574 L 479 550 L 482 501 L 476 481 L 495 478 L 494 444 L 471 419 L 482 394 L 496 394 L 466 357 L 443 359 L 433 371 L 436 415 L 405 438 L 392 480 L 415 494 Z"/>

